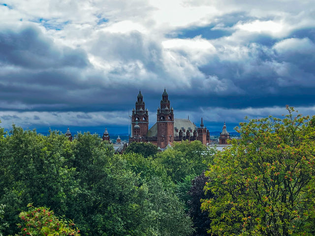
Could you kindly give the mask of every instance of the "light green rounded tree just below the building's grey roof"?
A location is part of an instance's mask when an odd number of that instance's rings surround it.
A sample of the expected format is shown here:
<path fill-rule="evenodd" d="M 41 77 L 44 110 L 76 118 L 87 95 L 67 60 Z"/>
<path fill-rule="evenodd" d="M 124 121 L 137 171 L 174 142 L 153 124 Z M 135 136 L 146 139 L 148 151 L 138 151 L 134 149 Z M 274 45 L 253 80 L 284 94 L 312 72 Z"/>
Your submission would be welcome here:
<path fill-rule="evenodd" d="M 156 155 L 155 161 L 162 164 L 174 182 L 180 182 L 188 175 L 200 175 L 212 161 L 214 149 L 202 145 L 200 141 L 174 143 Z"/>

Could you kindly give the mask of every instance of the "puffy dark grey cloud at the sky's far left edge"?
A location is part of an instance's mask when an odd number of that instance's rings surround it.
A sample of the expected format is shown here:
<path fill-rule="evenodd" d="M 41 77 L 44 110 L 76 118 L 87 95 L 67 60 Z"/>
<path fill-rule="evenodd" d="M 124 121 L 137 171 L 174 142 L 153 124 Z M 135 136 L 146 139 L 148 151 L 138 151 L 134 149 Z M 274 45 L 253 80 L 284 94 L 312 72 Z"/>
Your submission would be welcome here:
<path fill-rule="evenodd" d="M 89 64 L 83 50 L 57 47 L 35 27 L 16 31 L 0 31 L 0 63 L 29 69 L 86 67 Z"/>

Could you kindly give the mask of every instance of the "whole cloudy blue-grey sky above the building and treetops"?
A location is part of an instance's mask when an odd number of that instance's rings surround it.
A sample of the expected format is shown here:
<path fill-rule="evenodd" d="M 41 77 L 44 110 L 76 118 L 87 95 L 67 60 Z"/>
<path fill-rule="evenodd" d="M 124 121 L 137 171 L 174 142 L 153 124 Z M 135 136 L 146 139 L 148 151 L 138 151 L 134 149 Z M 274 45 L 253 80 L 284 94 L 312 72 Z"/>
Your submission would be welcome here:
<path fill-rule="evenodd" d="M 315 115 L 314 0 L 0 0 L 0 126 L 127 133 L 164 87 L 210 131 Z"/>

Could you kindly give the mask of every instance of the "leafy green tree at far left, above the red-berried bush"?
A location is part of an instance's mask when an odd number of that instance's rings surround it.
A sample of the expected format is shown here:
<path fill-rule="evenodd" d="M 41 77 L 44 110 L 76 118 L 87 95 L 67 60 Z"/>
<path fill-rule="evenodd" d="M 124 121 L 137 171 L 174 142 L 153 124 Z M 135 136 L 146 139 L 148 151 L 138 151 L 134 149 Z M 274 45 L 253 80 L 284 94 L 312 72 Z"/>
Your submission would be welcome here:
<path fill-rule="evenodd" d="M 0 203 L 10 226 L 5 233 L 16 233 L 18 214 L 29 202 L 64 214 L 76 183 L 74 169 L 67 166 L 70 142 L 57 133 L 46 137 L 13 125 L 0 145 Z"/>

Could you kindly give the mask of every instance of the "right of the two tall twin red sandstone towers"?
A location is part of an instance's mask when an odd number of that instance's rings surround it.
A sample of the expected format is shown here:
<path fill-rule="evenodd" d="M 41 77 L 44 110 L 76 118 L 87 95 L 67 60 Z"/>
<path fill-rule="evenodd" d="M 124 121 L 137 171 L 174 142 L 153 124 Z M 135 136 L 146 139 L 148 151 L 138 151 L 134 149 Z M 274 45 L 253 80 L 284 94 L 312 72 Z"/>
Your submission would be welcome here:
<path fill-rule="evenodd" d="M 174 139 L 174 110 L 170 107 L 166 89 L 162 94 L 162 100 L 157 113 L 158 147 L 166 148 Z"/>

